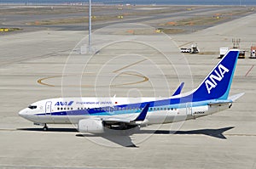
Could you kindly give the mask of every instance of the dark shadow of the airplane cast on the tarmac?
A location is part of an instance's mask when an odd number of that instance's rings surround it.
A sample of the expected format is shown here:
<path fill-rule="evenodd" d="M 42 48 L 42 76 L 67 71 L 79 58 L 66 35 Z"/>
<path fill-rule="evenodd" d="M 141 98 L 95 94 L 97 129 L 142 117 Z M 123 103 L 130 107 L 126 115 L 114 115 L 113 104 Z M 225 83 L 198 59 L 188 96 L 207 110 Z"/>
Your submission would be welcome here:
<path fill-rule="evenodd" d="M 234 127 L 224 127 L 218 129 L 201 129 L 201 130 L 189 130 L 189 131 L 170 131 L 170 130 L 139 130 L 134 129 L 129 132 L 123 131 L 107 131 L 103 134 L 76 134 L 77 137 L 102 137 L 108 139 L 109 141 L 119 144 L 124 147 L 137 147 L 131 141 L 131 135 L 133 134 L 166 134 L 166 135 L 206 135 L 213 138 L 227 139 L 224 136 L 224 132 L 232 129 Z M 42 128 L 17 128 L 17 130 L 22 131 L 35 131 L 35 132 L 44 132 Z M 47 132 L 78 132 L 75 128 L 49 128 Z"/>

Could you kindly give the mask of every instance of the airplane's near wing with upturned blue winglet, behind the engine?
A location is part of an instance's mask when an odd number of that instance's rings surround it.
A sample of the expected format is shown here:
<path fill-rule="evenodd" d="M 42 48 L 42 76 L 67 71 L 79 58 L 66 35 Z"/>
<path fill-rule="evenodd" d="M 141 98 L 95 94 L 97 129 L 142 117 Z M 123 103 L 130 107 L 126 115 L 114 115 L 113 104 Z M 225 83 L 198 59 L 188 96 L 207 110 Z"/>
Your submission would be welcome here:
<path fill-rule="evenodd" d="M 105 124 L 113 124 L 113 123 L 137 124 L 137 121 L 145 120 L 146 115 L 148 113 L 148 107 L 149 107 L 149 104 L 146 104 L 145 107 L 143 108 L 142 112 L 139 115 L 137 115 L 137 117 L 135 119 L 110 117 L 107 119 L 103 119 L 102 121 Z"/>

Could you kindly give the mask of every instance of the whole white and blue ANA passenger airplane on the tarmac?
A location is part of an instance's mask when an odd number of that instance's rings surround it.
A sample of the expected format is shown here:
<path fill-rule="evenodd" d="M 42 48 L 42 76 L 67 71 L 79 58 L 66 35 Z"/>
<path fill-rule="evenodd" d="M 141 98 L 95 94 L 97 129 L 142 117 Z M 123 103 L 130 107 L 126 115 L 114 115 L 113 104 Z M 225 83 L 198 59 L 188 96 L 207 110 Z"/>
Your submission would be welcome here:
<path fill-rule="evenodd" d="M 20 110 L 35 124 L 76 124 L 79 132 L 103 133 L 153 124 L 186 121 L 227 110 L 241 97 L 229 97 L 239 51 L 232 49 L 218 62 L 199 87 L 181 93 L 183 83 L 170 98 L 59 98 L 44 99 Z"/>

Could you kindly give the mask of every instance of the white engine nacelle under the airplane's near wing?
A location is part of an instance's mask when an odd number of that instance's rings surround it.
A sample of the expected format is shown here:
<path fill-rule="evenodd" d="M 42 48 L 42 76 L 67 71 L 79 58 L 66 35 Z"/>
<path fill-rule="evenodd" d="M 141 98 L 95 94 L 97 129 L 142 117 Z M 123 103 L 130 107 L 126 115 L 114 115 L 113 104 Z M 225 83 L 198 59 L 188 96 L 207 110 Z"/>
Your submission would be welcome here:
<path fill-rule="evenodd" d="M 79 121 L 79 132 L 103 133 L 102 121 L 94 119 L 83 119 Z"/>

